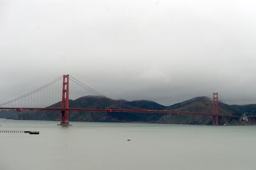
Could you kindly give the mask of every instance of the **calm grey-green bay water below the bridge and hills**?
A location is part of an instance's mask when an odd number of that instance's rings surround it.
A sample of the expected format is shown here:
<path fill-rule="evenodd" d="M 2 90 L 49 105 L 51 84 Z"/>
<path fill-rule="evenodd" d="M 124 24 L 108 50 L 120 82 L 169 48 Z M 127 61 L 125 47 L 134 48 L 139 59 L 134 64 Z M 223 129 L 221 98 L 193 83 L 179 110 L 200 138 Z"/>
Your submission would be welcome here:
<path fill-rule="evenodd" d="M 0 169 L 254 169 L 256 126 L 0 119 Z M 127 141 L 130 138 L 131 141 Z"/>

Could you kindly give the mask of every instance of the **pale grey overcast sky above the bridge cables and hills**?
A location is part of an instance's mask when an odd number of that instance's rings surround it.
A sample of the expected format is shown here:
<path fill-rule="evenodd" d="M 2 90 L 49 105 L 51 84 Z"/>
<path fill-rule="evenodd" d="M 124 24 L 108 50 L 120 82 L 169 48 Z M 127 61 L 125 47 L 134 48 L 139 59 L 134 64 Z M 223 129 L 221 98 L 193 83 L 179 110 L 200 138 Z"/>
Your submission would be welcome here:
<path fill-rule="evenodd" d="M 0 103 L 63 74 L 113 99 L 256 104 L 256 2 L 0 0 Z"/>

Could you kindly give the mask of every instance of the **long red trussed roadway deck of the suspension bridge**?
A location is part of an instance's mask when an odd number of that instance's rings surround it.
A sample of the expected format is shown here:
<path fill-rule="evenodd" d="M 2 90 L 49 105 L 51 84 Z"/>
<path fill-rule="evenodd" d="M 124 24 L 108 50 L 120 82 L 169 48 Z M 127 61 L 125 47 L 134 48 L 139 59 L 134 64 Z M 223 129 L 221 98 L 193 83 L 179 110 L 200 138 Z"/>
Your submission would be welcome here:
<path fill-rule="evenodd" d="M 65 111 L 64 108 L 0 108 L 0 110 L 5 111 Z M 207 113 L 193 113 L 193 112 L 173 112 L 173 111 L 158 111 L 158 110 L 123 110 L 123 109 L 74 109 L 69 108 L 69 111 L 79 111 L 79 112 L 135 112 L 135 113 L 165 113 L 165 114 L 192 114 L 192 115 L 202 115 L 202 116 L 216 116 L 216 114 Z M 233 117 L 240 118 L 241 116 L 231 116 L 218 114 L 219 117 Z"/>

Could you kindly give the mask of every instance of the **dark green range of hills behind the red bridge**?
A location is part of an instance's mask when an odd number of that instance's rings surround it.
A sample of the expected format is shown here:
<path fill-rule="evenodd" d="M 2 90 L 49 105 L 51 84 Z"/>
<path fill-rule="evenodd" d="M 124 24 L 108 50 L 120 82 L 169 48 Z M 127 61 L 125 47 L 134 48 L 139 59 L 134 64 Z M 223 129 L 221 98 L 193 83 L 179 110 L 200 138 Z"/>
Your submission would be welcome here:
<path fill-rule="evenodd" d="M 204 100 L 204 102 L 199 103 Z M 170 106 L 163 106 L 149 100 L 117 100 L 134 107 L 145 108 L 150 110 L 174 110 L 178 112 L 202 112 L 211 114 L 212 101 L 205 96 L 194 97 Z M 118 104 L 109 104 L 107 100 L 99 96 L 83 96 L 76 100 L 69 100 L 70 108 L 83 108 L 87 105 L 93 105 L 95 108 L 102 108 L 105 103 L 106 109 L 119 108 Z M 197 104 L 199 103 L 199 104 Z M 61 102 L 55 103 L 47 108 L 60 108 Z M 190 106 L 190 107 L 188 107 Z M 121 108 L 121 107 L 120 107 Z M 181 109 L 178 109 L 181 108 Z M 178 109 L 178 110 L 177 110 Z M 239 115 L 244 113 L 255 115 L 255 105 L 227 105 L 219 102 L 219 114 Z M 61 120 L 60 111 L 1 111 L 0 118 L 15 120 Z M 127 113 L 127 112 L 69 112 L 69 121 L 89 121 L 89 122 L 147 122 L 147 123 L 164 123 L 164 124 L 212 124 L 211 116 L 185 115 L 185 114 L 159 114 L 159 113 Z M 249 124 L 241 122 L 238 118 L 219 117 L 219 125 L 241 125 Z"/>

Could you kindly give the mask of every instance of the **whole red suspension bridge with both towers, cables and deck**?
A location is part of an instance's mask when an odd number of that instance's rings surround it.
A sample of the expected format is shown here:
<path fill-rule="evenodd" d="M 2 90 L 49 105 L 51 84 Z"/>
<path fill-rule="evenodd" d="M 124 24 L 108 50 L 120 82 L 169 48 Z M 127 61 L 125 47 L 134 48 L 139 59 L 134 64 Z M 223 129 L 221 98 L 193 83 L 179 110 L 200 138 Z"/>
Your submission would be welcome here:
<path fill-rule="evenodd" d="M 94 97 L 87 97 L 88 100 L 85 100 L 86 96 Z M 62 100 L 60 101 L 60 99 Z M 78 103 L 75 103 L 75 99 L 80 100 L 76 100 Z M 219 109 L 219 101 L 221 101 L 224 108 L 222 107 L 222 109 Z M 67 74 L 34 91 L 31 91 L 30 93 L 0 104 L 0 110 L 61 111 L 61 123 L 59 125 L 63 126 L 70 125 L 69 111 L 202 115 L 212 116 L 213 125 L 218 125 L 218 117 L 241 117 L 231 115 L 231 109 L 227 104 L 223 104 L 223 101 L 225 100 L 223 100 L 222 97 L 220 99 L 218 93 L 213 93 L 200 101 L 171 110 L 160 111 L 148 108 L 139 108 L 104 96 Z M 221 114 L 219 114 L 219 110 L 221 111 Z"/>

